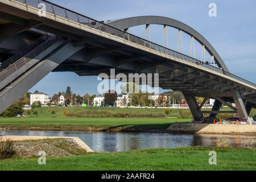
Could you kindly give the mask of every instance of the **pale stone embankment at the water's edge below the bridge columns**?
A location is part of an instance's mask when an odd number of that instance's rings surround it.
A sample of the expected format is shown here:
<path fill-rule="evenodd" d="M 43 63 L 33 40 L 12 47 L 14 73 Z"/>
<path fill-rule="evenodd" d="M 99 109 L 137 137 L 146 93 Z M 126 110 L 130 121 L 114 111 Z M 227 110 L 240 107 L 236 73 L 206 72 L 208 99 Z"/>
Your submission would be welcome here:
<path fill-rule="evenodd" d="M 218 125 L 174 123 L 166 130 L 169 133 L 245 134 L 255 135 L 256 125 Z"/>

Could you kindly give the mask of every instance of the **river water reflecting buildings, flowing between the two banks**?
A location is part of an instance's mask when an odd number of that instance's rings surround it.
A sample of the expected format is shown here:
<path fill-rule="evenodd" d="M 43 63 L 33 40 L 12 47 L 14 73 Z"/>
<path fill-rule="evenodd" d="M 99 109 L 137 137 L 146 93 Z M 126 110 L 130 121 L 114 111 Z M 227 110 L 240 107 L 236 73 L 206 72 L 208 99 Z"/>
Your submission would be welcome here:
<path fill-rule="evenodd" d="M 210 135 L 171 133 L 106 133 L 93 131 L 0 130 L 0 135 L 79 137 L 94 151 L 129 151 L 143 148 L 218 146 L 220 139 L 229 146 L 256 148 L 256 135 Z"/>

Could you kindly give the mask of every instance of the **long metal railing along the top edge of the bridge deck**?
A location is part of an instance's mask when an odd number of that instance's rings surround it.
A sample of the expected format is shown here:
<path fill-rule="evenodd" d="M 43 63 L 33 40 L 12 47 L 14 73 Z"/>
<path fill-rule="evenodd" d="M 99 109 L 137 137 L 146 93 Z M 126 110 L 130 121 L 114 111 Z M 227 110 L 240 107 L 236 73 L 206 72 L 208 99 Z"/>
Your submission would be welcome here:
<path fill-rule="evenodd" d="M 146 46 L 148 48 L 155 49 L 156 51 L 166 53 L 168 55 L 177 57 L 179 59 L 183 59 L 183 60 L 188 61 L 190 63 L 193 63 L 193 64 L 199 65 L 201 67 L 210 69 L 212 71 L 230 76 L 232 78 L 235 78 L 236 80 L 245 82 L 246 84 L 249 84 L 249 85 L 252 85 L 252 86 L 256 87 L 256 85 L 254 83 L 252 83 L 250 81 L 247 81 L 243 78 L 240 78 L 236 75 L 233 75 L 229 72 L 224 72 L 220 68 L 213 67 L 212 65 L 204 63 L 200 60 L 197 60 L 197 59 L 194 59 L 194 58 L 189 57 L 187 55 L 184 55 L 182 53 L 173 51 L 172 49 L 168 49 L 166 47 L 160 46 L 159 44 L 152 43 L 152 42 L 150 42 L 146 39 L 139 38 L 138 36 L 129 34 L 128 32 L 125 32 L 125 31 L 119 30 L 115 27 L 109 26 L 108 24 L 105 24 L 104 22 L 100 22 L 98 20 L 89 18 L 88 16 L 81 15 L 79 13 L 76 13 L 75 11 L 65 9 L 64 7 L 61 7 L 61 6 L 56 5 L 54 3 L 51 3 L 51 2 L 48 2 L 48 1 L 45 1 L 45 0 L 16 0 L 16 1 L 26 3 L 27 5 L 30 5 L 30 6 L 33 6 L 33 7 L 36 7 L 36 8 L 40 8 L 39 4 L 43 3 L 46 6 L 46 11 L 49 12 L 49 13 L 61 16 L 63 18 L 67 18 L 69 20 L 84 24 L 84 25 L 89 26 L 89 27 L 96 28 L 98 30 L 104 31 L 104 32 L 112 34 L 112 35 L 122 37 L 122 38 L 124 38 L 128 41 L 137 43 L 137 44 L 142 45 L 142 46 Z"/>

